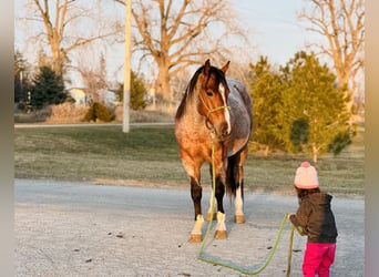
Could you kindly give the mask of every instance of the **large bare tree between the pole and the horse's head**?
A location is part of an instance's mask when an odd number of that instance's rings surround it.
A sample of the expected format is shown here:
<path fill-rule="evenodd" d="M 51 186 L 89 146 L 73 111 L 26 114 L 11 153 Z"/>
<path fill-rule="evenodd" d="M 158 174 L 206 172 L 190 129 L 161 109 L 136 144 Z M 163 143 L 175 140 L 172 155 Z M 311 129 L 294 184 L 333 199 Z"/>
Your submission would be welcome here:
<path fill-rule="evenodd" d="M 115 0 L 124 3 L 124 0 Z M 172 107 L 170 81 L 183 69 L 203 63 L 204 57 L 217 52 L 229 55 L 232 37 L 236 44 L 247 44 L 225 0 L 136 0 L 132 14 L 134 52 L 142 59 L 152 57 L 158 68 L 157 92 Z"/>

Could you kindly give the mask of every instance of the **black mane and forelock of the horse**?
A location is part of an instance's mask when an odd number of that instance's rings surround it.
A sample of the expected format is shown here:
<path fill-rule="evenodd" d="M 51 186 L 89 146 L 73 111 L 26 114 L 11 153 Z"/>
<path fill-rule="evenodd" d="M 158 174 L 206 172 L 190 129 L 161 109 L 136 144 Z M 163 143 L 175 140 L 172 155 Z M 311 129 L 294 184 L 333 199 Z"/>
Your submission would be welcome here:
<path fill-rule="evenodd" d="M 192 99 L 195 94 L 195 86 L 197 84 L 197 79 L 198 79 L 199 74 L 203 72 L 204 66 L 205 65 L 202 65 L 201 68 L 198 68 L 195 72 L 195 74 L 190 80 L 187 88 L 185 89 L 182 102 L 181 102 L 180 106 L 177 107 L 176 115 L 175 115 L 176 120 L 180 120 L 184 115 L 187 101 L 192 101 Z M 221 82 L 224 84 L 224 86 L 227 86 L 225 74 L 222 70 L 219 70 L 215 66 L 211 66 L 209 71 L 208 71 L 207 80 L 211 78 L 212 74 L 215 74 L 216 82 Z"/>

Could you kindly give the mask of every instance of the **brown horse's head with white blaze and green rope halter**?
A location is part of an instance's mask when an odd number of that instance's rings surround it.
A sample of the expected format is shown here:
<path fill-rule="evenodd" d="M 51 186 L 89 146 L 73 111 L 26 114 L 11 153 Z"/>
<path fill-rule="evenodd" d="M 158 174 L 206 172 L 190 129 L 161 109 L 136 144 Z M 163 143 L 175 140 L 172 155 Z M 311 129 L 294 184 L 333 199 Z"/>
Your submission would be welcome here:
<path fill-rule="evenodd" d="M 219 140 L 225 140 L 231 134 L 231 115 L 227 105 L 229 88 L 227 86 L 225 72 L 229 66 L 227 62 L 222 69 L 211 66 L 209 60 L 202 66 L 198 78 L 198 106 L 197 111 L 206 117 L 206 125 Z"/>

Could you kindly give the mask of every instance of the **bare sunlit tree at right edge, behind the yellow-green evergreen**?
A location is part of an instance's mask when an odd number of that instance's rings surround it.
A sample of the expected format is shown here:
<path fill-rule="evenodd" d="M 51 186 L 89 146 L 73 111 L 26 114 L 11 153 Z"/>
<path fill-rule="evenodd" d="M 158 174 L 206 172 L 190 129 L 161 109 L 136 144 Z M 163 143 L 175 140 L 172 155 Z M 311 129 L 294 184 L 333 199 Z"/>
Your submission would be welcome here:
<path fill-rule="evenodd" d="M 311 25 L 307 30 L 324 35 L 328 47 L 317 44 L 321 54 L 331 58 L 339 85 L 346 85 L 354 103 L 356 76 L 363 70 L 365 6 L 363 0 L 311 0 L 299 13 Z"/>

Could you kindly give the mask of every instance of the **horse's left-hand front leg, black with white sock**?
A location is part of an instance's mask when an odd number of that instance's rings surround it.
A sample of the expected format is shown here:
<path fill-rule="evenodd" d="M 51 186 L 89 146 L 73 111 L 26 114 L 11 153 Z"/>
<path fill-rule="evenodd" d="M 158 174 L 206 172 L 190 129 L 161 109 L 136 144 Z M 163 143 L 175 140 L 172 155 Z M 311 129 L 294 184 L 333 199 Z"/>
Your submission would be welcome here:
<path fill-rule="evenodd" d="M 194 204 L 195 211 L 195 225 L 191 232 L 190 243 L 201 243 L 202 242 L 202 227 L 204 224 L 204 218 L 202 215 L 202 185 L 199 184 L 198 178 L 191 178 L 191 197 Z"/>

